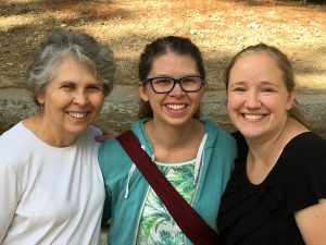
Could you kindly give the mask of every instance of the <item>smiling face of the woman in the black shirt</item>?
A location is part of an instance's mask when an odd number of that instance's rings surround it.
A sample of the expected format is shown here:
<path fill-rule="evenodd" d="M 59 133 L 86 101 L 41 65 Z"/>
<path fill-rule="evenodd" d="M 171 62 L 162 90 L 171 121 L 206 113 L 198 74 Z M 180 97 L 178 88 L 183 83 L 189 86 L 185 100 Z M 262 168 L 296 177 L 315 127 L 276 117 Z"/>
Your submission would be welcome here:
<path fill-rule="evenodd" d="M 240 57 L 230 70 L 227 110 L 233 124 L 247 138 L 268 139 L 280 132 L 291 109 L 283 73 L 267 52 Z"/>

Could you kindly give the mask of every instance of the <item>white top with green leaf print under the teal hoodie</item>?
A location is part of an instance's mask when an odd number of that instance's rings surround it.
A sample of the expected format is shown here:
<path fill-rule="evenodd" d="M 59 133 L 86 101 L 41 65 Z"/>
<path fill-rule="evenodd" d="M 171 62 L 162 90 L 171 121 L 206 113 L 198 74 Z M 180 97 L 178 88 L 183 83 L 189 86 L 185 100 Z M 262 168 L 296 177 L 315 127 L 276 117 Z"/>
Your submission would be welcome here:
<path fill-rule="evenodd" d="M 193 185 L 195 159 L 181 163 L 155 162 L 161 172 L 191 203 L 196 186 Z M 137 245 L 185 245 L 185 237 L 167 209 L 150 188 L 140 218 Z"/>

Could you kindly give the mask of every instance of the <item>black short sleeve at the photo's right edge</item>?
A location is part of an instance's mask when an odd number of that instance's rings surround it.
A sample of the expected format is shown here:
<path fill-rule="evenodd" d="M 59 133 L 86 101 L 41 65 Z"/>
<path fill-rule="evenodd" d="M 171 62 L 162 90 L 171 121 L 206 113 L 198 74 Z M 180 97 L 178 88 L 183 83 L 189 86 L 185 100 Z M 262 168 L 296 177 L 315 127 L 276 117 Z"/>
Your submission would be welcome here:
<path fill-rule="evenodd" d="M 280 203 L 286 215 L 326 198 L 326 140 L 314 133 L 294 137 L 279 158 Z"/>

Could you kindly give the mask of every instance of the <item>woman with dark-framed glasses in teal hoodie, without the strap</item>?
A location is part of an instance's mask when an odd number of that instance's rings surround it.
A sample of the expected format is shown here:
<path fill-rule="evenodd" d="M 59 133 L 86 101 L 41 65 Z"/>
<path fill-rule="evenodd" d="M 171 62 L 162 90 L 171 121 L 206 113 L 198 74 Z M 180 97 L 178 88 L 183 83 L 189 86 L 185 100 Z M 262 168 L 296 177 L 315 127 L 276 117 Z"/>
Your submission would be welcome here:
<path fill-rule="evenodd" d="M 154 40 L 140 56 L 139 79 L 140 120 L 131 132 L 152 164 L 216 232 L 236 145 L 211 121 L 199 119 L 206 88 L 199 48 L 184 37 Z M 109 244 L 193 244 L 116 139 L 104 142 L 99 162 L 106 189 L 104 221 L 111 219 Z"/>

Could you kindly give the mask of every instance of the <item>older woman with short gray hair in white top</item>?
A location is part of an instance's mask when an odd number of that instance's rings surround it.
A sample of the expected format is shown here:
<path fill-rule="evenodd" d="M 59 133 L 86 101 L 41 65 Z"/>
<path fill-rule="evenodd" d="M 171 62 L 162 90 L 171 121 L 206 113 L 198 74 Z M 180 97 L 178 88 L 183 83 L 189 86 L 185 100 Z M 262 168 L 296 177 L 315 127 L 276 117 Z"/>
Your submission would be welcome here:
<path fill-rule="evenodd" d="M 112 51 L 87 34 L 45 41 L 27 72 L 40 111 L 0 137 L 0 244 L 99 244 L 101 131 L 90 124 L 114 73 Z"/>

